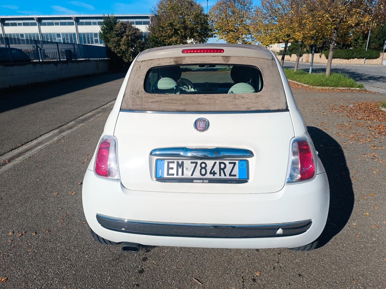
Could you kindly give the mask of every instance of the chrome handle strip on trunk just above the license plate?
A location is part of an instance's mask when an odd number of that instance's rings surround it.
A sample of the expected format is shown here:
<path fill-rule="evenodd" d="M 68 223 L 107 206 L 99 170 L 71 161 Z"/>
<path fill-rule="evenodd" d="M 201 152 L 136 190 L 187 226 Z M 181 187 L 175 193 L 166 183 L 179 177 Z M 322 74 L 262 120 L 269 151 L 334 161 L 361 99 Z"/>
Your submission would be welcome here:
<path fill-rule="evenodd" d="M 242 148 L 156 148 L 151 156 L 176 158 L 252 158 L 250 150 Z"/>

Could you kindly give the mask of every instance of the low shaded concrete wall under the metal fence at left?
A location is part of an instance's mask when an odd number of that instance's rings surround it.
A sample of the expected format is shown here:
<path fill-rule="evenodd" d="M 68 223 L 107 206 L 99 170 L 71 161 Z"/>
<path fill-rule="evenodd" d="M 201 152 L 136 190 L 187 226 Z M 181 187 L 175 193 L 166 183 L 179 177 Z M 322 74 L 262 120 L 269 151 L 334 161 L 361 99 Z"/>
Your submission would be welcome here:
<path fill-rule="evenodd" d="M 0 64 L 0 89 L 108 72 L 108 60 Z"/>

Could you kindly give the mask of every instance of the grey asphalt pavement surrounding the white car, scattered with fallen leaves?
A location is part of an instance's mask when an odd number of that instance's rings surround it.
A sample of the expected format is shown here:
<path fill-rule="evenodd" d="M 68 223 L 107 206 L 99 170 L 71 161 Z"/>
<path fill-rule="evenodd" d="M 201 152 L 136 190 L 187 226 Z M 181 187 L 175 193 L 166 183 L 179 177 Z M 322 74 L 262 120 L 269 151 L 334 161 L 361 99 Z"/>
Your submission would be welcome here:
<path fill-rule="evenodd" d="M 121 75 L 110 77 L 115 80 L 104 82 L 105 90 L 97 88 L 101 84 L 95 79 L 86 78 L 81 80 L 83 89 L 73 95 L 56 95 L 61 102 L 52 103 L 48 94 L 41 103 L 24 108 L 29 118 L 44 120 L 47 114 L 40 108 L 49 111 L 50 102 L 54 109 L 60 103 L 72 103 L 67 113 L 58 110 L 55 126 L 65 124 L 70 119 L 67 114 L 85 105 L 84 95 L 92 95 L 95 108 L 109 101 L 106 91 L 117 92 L 122 82 Z M 39 96 L 39 91 L 39 87 L 30 88 L 31 94 Z M 105 111 L 1 173 L 0 279 L 7 280 L 0 282 L 0 288 L 383 289 L 386 162 L 379 160 L 386 159 L 385 136 L 372 134 L 367 122 L 354 126 L 361 121 L 334 108 L 384 96 L 302 88 L 293 92 L 330 181 L 331 205 L 321 248 L 293 252 L 143 247 L 138 253 L 127 253 L 120 246 L 97 244 L 85 223 L 79 183 L 110 112 Z M 11 115 L 3 109 L 0 118 L 5 113 Z M 2 136 L 5 143 L 24 127 L 31 129 L 28 122 L 8 126 L 10 131 Z M 43 121 L 35 135 L 52 127 L 50 121 Z M 352 138 L 354 134 L 369 141 Z"/>

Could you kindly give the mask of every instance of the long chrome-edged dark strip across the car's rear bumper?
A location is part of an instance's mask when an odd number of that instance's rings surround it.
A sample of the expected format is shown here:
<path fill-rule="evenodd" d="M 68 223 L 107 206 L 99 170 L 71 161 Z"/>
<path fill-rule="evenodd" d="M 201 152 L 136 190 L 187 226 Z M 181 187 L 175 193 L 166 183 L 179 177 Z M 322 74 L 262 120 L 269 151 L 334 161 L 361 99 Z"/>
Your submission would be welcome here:
<path fill-rule="evenodd" d="M 312 221 L 263 225 L 217 225 L 189 223 L 159 223 L 126 220 L 97 214 L 105 229 L 122 233 L 169 237 L 201 238 L 266 238 L 293 236 L 310 229 Z"/>

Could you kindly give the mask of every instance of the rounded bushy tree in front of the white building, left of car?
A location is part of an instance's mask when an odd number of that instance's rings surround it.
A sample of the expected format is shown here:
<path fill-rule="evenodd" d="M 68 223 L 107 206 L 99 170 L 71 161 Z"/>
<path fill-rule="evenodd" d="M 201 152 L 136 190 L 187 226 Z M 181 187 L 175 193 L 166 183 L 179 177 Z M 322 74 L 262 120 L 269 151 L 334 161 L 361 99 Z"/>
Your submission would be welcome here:
<path fill-rule="evenodd" d="M 126 63 L 130 63 L 144 49 L 147 48 L 146 39 L 142 31 L 130 22 L 119 21 L 109 34 L 108 47 Z"/>

